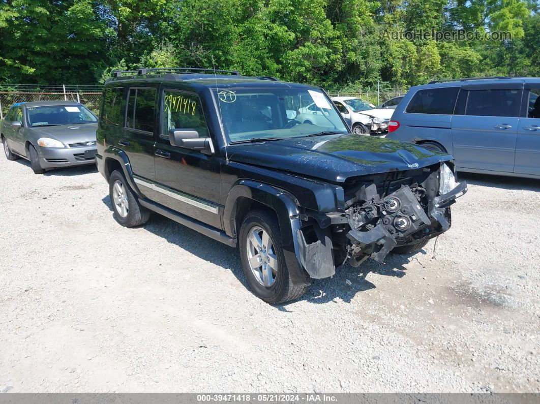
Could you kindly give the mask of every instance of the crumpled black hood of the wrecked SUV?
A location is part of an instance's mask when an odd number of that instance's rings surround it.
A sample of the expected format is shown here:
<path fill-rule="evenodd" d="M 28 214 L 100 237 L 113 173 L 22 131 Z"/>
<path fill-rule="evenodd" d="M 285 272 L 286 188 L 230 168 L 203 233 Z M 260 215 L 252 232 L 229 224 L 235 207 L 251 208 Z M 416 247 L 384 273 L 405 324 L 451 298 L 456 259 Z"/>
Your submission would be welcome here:
<path fill-rule="evenodd" d="M 365 135 L 328 135 L 228 146 L 231 161 L 344 182 L 349 177 L 409 170 L 451 160 L 445 153 Z"/>

